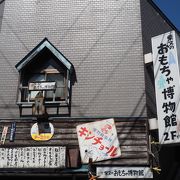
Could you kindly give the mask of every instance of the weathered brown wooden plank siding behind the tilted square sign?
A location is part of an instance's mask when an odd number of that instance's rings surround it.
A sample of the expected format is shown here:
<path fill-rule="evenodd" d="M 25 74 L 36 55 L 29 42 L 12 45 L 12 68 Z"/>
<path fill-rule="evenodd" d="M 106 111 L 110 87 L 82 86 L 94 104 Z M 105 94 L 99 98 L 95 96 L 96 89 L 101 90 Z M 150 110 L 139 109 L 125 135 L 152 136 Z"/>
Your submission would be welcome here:
<path fill-rule="evenodd" d="M 38 142 L 31 138 L 30 130 L 35 121 L 32 120 L 16 120 L 16 134 L 15 141 L 9 142 L 8 132 L 5 145 L 1 147 L 18 147 L 18 146 L 67 146 L 71 149 L 71 161 L 72 167 L 77 166 L 77 159 L 73 158 L 73 151 L 76 154 L 79 151 L 76 126 L 93 121 L 99 121 L 101 119 L 78 119 L 78 118 L 62 118 L 52 120 L 51 123 L 54 126 L 54 136 L 49 141 Z M 11 126 L 12 120 L 0 121 L 0 133 L 2 133 L 3 127 L 7 125 Z M 132 119 L 116 119 L 117 136 L 120 142 L 122 156 L 120 158 L 106 160 L 95 164 L 101 165 L 149 165 L 148 155 L 148 138 L 147 127 L 145 120 Z M 39 171 L 40 172 L 40 171 Z"/>

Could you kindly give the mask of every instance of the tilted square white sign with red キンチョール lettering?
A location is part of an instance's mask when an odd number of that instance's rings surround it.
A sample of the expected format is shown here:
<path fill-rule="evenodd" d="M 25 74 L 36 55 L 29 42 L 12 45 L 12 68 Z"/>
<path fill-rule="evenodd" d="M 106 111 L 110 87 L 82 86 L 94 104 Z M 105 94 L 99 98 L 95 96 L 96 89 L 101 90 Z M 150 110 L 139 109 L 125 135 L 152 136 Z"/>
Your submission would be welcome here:
<path fill-rule="evenodd" d="M 81 124 L 76 130 L 82 163 L 121 156 L 114 119 Z"/>

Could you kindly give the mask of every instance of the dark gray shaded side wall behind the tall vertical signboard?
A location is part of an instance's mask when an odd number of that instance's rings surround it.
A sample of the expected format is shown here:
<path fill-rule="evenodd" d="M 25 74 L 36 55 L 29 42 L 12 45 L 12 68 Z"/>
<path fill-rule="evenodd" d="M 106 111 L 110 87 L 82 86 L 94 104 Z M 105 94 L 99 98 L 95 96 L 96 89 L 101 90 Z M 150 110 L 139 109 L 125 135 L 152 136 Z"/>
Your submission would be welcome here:
<path fill-rule="evenodd" d="M 172 28 L 160 16 L 153 6 L 149 3 L 150 0 L 140 0 L 141 18 L 142 18 L 142 39 L 143 53 L 152 52 L 151 38 L 169 31 Z M 145 66 L 146 79 L 146 97 L 147 97 L 147 114 L 148 117 L 156 117 L 156 99 L 154 89 L 154 72 L 153 64 Z"/>

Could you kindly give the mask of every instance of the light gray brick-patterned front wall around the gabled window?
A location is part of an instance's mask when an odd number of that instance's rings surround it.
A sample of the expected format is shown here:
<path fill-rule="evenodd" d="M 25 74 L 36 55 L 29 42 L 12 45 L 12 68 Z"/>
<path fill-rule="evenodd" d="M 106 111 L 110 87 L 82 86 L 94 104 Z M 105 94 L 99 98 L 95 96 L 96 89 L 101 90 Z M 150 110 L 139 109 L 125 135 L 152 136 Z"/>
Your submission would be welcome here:
<path fill-rule="evenodd" d="M 75 66 L 72 116 L 146 116 L 139 0 L 6 0 L 0 117 L 19 115 L 19 62 L 47 37 Z"/>

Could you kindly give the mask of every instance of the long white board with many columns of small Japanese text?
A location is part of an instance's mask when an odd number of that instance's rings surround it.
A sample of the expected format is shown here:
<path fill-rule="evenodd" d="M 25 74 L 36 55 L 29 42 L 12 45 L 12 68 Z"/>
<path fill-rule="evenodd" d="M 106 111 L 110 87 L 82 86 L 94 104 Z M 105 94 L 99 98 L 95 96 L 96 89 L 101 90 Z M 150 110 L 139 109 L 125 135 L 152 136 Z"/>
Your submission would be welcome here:
<path fill-rule="evenodd" d="M 0 148 L 0 168 L 65 168 L 66 147 Z"/>

